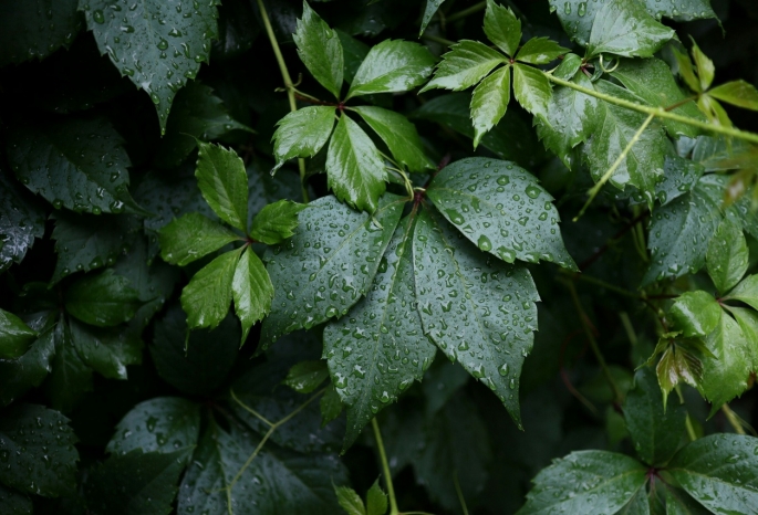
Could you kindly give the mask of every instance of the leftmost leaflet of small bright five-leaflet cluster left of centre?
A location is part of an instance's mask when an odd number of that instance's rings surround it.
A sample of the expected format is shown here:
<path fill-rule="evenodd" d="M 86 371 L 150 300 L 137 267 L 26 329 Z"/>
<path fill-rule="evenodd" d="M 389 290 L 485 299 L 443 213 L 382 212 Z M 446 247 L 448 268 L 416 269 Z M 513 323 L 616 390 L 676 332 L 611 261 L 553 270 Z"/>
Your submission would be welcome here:
<path fill-rule="evenodd" d="M 240 237 L 198 212 L 177 218 L 158 232 L 160 258 L 167 263 L 186 266 Z"/>

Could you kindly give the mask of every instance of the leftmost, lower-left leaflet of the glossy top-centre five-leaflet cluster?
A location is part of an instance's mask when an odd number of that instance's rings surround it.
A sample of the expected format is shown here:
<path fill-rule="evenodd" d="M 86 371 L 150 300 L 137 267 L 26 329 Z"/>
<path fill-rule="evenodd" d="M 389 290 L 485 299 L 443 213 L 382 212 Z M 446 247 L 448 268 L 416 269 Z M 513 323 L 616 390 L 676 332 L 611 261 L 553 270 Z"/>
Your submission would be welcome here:
<path fill-rule="evenodd" d="M 303 107 L 277 122 L 273 156 L 278 170 L 293 157 L 313 157 L 326 144 L 334 127 L 334 108 L 324 105 Z"/>

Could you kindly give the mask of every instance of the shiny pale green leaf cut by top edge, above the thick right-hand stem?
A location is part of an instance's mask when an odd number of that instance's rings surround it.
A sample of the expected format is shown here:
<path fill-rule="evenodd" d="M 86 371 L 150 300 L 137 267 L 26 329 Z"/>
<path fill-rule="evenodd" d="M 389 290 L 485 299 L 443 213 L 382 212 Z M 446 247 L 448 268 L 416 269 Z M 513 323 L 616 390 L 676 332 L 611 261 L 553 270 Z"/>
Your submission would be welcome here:
<path fill-rule="evenodd" d="M 609 0 L 598 11 L 588 43 L 588 56 L 603 53 L 652 57 L 675 32 L 655 21 L 636 1 Z"/>

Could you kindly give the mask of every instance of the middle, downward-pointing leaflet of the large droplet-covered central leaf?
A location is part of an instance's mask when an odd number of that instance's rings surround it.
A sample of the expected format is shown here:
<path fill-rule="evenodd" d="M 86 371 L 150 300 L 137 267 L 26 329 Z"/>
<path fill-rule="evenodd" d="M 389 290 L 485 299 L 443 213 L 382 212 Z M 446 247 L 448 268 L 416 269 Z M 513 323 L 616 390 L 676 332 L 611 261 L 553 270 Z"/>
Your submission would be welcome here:
<path fill-rule="evenodd" d="M 382 408 L 396 401 L 414 379 L 420 381 L 434 359 L 436 349 L 413 308 L 414 218 L 395 230 L 366 296 L 324 329 L 323 357 L 347 409 L 345 450 Z"/>

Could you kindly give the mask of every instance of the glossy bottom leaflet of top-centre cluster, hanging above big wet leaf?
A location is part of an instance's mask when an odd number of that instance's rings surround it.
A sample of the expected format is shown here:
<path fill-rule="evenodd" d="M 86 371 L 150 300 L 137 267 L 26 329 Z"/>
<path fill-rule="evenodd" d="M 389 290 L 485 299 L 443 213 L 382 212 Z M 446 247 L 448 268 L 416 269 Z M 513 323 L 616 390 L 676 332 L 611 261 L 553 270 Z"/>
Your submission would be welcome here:
<path fill-rule="evenodd" d="M 347 115 L 340 116 L 326 153 L 329 187 L 340 200 L 373 213 L 386 188 L 378 149 Z"/>

